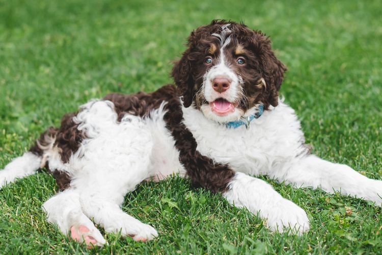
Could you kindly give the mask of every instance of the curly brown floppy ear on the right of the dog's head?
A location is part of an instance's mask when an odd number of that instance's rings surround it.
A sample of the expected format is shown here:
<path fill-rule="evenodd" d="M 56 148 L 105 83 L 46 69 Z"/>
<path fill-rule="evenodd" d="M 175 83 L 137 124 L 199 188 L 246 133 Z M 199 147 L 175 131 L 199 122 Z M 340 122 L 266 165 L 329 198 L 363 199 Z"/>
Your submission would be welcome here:
<path fill-rule="evenodd" d="M 254 31 L 254 47 L 256 55 L 260 58 L 260 69 L 266 83 L 268 92 L 267 103 L 277 106 L 279 101 L 279 90 L 284 79 L 286 66 L 278 60 L 270 46 L 270 40 L 263 33 Z"/>

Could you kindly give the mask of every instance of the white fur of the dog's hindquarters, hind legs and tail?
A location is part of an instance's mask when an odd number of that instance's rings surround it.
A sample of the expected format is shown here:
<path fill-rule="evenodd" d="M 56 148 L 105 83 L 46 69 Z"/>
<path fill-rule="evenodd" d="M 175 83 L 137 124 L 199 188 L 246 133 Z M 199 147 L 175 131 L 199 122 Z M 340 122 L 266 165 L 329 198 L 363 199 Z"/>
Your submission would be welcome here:
<path fill-rule="evenodd" d="M 158 235 L 155 229 L 120 207 L 125 194 L 144 180 L 185 175 L 179 151 L 163 120 L 163 106 L 165 102 L 147 118 L 127 114 L 119 123 L 111 101 L 92 100 L 81 106 L 74 118 L 87 139 L 68 163 L 61 161 L 59 148 L 53 146 L 51 138 L 50 144 L 40 146 L 44 149 L 42 158 L 27 152 L 0 171 L 2 184 L 32 174 L 41 162 L 48 161 L 49 169 L 65 171 L 72 178 L 70 188 L 43 205 L 47 220 L 56 223 L 63 233 L 69 233 L 71 227 L 78 232 L 81 225 L 86 226 L 89 232 L 81 233 L 81 241 L 90 236 L 102 246 L 105 240 L 92 218 L 106 232 L 121 232 L 137 241 L 151 240 Z"/>

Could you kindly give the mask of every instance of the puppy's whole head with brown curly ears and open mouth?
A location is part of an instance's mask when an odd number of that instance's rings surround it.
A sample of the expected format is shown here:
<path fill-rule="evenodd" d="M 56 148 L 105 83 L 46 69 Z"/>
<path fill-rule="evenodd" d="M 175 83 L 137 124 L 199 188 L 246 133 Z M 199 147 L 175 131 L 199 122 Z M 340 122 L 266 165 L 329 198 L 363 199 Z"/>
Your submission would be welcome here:
<path fill-rule="evenodd" d="M 193 31 L 188 48 L 172 70 L 184 107 L 225 123 L 260 104 L 277 106 L 286 67 L 268 38 L 243 24 L 214 20 Z"/>

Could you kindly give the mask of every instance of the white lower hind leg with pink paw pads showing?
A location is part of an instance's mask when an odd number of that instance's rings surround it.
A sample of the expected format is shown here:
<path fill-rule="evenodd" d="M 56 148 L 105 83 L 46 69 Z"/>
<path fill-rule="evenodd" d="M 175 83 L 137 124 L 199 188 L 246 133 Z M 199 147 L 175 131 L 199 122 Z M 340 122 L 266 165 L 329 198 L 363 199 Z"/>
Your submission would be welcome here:
<path fill-rule="evenodd" d="M 55 223 L 66 235 L 77 242 L 102 246 L 106 243 L 93 222 L 85 216 L 79 204 L 79 195 L 74 190 L 67 189 L 49 198 L 42 206 L 47 213 L 47 221 Z"/>

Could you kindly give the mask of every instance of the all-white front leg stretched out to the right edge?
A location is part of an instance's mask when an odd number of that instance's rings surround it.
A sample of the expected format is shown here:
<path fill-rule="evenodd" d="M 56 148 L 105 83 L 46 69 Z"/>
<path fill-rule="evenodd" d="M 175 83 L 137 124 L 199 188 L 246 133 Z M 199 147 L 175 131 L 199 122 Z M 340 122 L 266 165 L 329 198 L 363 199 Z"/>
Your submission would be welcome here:
<path fill-rule="evenodd" d="M 372 180 L 351 167 L 332 163 L 309 155 L 295 162 L 280 176 L 274 176 L 280 182 L 295 187 L 311 187 L 342 195 L 350 195 L 373 201 L 377 206 L 382 203 L 382 181 Z"/>

